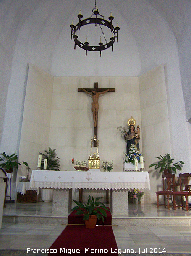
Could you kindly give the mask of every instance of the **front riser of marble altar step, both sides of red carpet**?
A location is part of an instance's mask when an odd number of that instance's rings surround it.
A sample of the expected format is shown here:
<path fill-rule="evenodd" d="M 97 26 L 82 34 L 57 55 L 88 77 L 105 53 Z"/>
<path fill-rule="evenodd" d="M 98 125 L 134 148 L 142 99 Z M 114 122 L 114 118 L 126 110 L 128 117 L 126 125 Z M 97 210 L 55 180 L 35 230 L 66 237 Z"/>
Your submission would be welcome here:
<path fill-rule="evenodd" d="M 13 224 L 68 224 L 68 216 L 16 216 L 4 215 L 3 223 Z M 125 217 L 113 216 L 112 225 L 116 226 L 191 226 L 191 218 L 187 216 L 181 217 Z"/>

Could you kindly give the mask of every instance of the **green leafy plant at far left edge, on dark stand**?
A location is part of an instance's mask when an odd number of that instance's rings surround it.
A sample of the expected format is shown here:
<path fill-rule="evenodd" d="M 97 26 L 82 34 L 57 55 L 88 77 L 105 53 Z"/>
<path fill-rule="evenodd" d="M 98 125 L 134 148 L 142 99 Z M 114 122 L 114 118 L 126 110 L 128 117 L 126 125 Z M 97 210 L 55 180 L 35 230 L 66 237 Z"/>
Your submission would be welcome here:
<path fill-rule="evenodd" d="M 18 169 L 21 163 L 18 162 L 18 156 L 13 153 L 12 155 L 6 155 L 5 152 L 1 153 L 0 157 L 0 167 L 5 170 L 5 172 L 13 172 L 14 168 Z M 24 165 L 28 166 L 27 162 L 22 162 Z"/>

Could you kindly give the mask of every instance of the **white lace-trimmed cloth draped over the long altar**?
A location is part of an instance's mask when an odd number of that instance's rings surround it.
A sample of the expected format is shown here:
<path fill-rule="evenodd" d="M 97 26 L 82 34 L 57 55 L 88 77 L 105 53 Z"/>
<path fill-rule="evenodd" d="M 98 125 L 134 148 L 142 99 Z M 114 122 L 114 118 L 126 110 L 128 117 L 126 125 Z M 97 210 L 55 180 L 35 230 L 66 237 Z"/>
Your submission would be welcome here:
<path fill-rule="evenodd" d="M 30 187 L 86 189 L 150 189 L 148 172 L 78 172 L 33 170 Z"/>

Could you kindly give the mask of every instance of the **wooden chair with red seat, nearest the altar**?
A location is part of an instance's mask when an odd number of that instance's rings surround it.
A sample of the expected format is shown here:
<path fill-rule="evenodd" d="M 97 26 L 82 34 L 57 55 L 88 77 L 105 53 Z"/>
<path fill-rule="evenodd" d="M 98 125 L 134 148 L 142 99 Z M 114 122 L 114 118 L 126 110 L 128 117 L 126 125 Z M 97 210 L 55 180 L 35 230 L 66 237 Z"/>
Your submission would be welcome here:
<path fill-rule="evenodd" d="M 163 183 L 163 190 L 157 191 L 157 208 L 159 208 L 160 205 L 166 206 L 168 209 L 170 209 L 170 203 L 169 203 L 169 197 L 172 195 L 175 187 L 175 174 L 163 174 L 162 175 L 162 183 Z M 164 203 L 159 204 L 159 195 L 163 195 L 164 197 Z M 166 198 L 167 198 L 167 205 L 166 205 Z"/>

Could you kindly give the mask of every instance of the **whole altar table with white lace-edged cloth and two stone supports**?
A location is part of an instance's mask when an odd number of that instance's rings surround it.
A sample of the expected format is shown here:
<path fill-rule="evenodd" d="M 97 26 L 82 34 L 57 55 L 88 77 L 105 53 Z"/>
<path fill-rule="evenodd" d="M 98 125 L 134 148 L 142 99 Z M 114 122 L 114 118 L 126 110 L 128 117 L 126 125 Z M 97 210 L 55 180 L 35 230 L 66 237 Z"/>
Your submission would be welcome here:
<path fill-rule="evenodd" d="M 53 212 L 71 210 L 72 189 L 111 190 L 111 210 L 128 213 L 128 188 L 150 189 L 148 172 L 78 172 L 33 170 L 30 187 L 54 188 Z"/>

